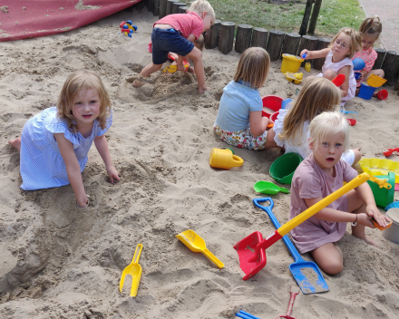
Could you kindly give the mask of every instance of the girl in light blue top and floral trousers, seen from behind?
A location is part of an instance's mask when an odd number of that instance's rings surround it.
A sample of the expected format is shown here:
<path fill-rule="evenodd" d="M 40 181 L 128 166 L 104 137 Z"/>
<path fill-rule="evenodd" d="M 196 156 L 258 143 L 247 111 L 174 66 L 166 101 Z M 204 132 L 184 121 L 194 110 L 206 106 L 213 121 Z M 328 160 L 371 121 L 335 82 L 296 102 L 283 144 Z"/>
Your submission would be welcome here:
<path fill-rule="evenodd" d="M 263 150 L 267 142 L 267 117 L 258 89 L 268 77 L 270 57 L 252 47 L 241 54 L 234 80 L 223 89 L 213 128 L 221 140 L 248 150 Z"/>

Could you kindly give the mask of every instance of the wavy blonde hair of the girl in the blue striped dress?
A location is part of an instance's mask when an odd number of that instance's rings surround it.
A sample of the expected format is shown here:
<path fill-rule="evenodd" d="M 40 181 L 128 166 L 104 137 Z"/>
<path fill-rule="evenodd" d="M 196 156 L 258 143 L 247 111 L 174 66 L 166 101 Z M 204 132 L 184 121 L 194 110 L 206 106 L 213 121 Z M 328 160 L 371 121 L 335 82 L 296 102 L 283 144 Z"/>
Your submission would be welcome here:
<path fill-rule="evenodd" d="M 105 129 L 107 118 L 111 113 L 111 100 L 100 76 L 91 70 L 75 71 L 63 83 L 63 90 L 57 102 L 58 119 L 65 120 L 70 131 L 78 131 L 72 107 L 73 98 L 81 90 L 97 90 L 100 97 L 100 114 L 97 121 L 101 128 Z"/>

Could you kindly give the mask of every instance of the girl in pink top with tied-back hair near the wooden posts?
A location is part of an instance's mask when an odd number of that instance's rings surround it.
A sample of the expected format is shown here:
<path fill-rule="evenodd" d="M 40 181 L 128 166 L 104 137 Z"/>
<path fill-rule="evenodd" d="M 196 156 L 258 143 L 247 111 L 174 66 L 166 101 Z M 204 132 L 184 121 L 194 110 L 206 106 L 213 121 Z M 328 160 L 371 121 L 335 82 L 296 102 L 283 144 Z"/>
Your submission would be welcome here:
<path fill-rule="evenodd" d="M 356 52 L 352 57 L 352 60 L 356 58 L 362 59 L 365 62 L 365 68 L 360 72 L 361 75 L 359 79 L 356 80 L 357 87 L 360 87 L 360 84 L 363 81 L 367 81 L 371 74 L 375 74 L 384 78 L 383 70 L 372 70 L 375 60 L 378 56 L 373 49 L 373 44 L 383 32 L 383 24 L 381 24 L 380 18 L 376 15 L 365 18 L 365 21 L 363 21 L 360 25 L 359 32 L 362 34 L 362 51 Z"/>

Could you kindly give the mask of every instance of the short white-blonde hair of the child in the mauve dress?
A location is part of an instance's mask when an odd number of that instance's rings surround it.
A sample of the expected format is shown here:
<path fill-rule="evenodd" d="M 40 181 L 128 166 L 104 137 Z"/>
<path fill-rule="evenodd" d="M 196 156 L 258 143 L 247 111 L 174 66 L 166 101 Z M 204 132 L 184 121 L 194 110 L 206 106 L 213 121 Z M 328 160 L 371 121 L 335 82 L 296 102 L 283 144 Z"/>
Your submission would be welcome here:
<path fill-rule="evenodd" d="M 349 124 L 338 111 L 325 111 L 316 116 L 309 125 L 309 140 L 308 144 L 313 142 L 314 150 L 325 141 L 331 141 L 336 134 L 342 134 L 344 137 L 344 144 L 342 151 L 347 150 L 349 146 Z"/>

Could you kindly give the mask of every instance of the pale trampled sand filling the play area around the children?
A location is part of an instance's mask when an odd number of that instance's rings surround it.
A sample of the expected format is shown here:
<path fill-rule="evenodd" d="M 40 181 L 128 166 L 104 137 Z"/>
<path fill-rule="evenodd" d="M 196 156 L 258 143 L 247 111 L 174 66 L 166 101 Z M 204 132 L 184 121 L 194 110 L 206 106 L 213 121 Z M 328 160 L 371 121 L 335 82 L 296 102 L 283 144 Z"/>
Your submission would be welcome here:
<path fill-rule="evenodd" d="M 139 28 L 131 38 L 119 34 L 119 24 L 128 19 Z M 248 281 L 242 280 L 233 249 L 254 231 L 264 237 L 274 231 L 268 216 L 252 204 L 259 197 L 253 185 L 273 181 L 268 169 L 282 153 L 234 149 L 245 161 L 241 168 L 209 167 L 210 150 L 227 147 L 212 125 L 239 54 L 205 50 L 205 94 L 181 73 L 134 89 L 131 79 L 151 62 L 147 43 L 156 19 L 146 9 L 122 11 L 64 34 L 2 43 L 0 317 L 234 318 L 243 309 L 274 318 L 286 313 L 296 283 L 283 242 L 268 248 L 268 264 Z M 261 95 L 294 98 L 301 85 L 287 82 L 280 63 L 272 63 Z M 122 178 L 110 185 L 92 148 L 83 172 L 91 195 L 85 210 L 76 208 L 70 186 L 21 190 L 19 153 L 7 145 L 20 136 L 27 119 L 54 105 L 67 75 L 82 68 L 101 73 L 111 95 L 113 123 L 106 137 Z M 355 98 L 346 104 L 346 110 L 359 113 L 350 114 L 357 120 L 351 146 L 361 147 L 365 158 L 384 159 L 384 150 L 399 146 L 399 98 L 387 89 L 386 101 Z M 272 198 L 283 224 L 289 195 Z M 189 228 L 225 264 L 222 269 L 175 237 Z M 379 247 L 347 230 L 338 244 L 344 271 L 323 273 L 328 292 L 297 295 L 297 318 L 397 318 L 399 247 L 376 229 L 366 233 Z M 142 276 L 133 298 L 129 286 L 119 292 L 119 281 L 139 243 Z"/>

